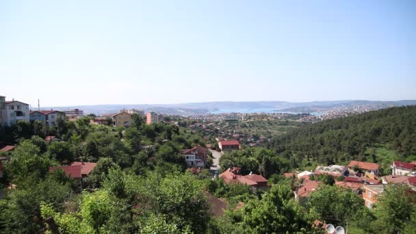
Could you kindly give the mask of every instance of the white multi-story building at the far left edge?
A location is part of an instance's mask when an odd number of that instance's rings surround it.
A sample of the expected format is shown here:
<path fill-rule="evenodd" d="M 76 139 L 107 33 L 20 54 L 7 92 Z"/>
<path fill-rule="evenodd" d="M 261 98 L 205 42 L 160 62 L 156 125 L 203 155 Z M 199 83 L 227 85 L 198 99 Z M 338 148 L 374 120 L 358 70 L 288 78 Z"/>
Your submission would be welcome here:
<path fill-rule="evenodd" d="M 0 123 L 13 125 L 18 120 L 29 122 L 29 105 L 21 101 L 5 101 L 5 96 L 0 96 Z"/>

